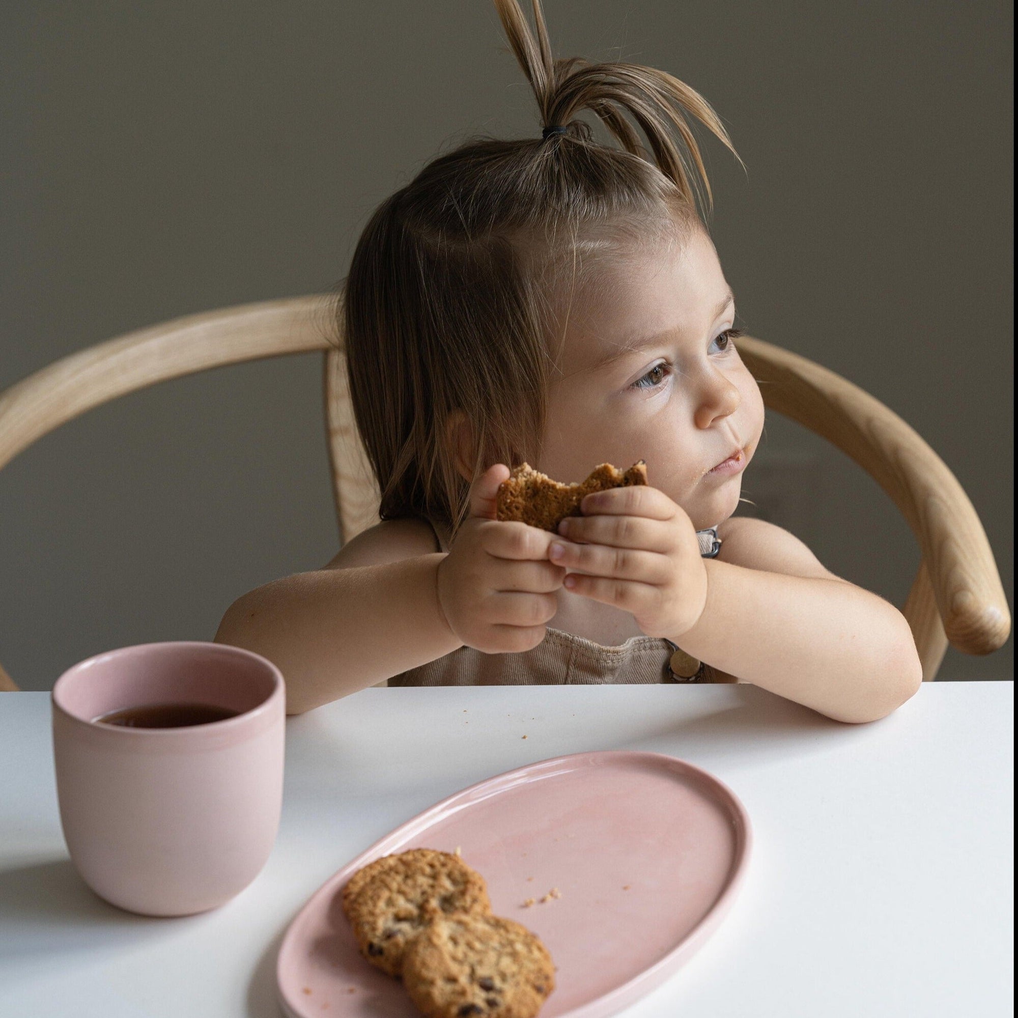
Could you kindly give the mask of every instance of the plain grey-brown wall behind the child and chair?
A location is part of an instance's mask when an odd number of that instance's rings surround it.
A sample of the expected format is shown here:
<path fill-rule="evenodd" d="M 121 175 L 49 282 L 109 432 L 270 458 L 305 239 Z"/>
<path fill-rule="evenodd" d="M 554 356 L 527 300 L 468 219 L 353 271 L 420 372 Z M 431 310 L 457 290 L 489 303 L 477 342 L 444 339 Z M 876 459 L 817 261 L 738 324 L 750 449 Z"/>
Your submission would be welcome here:
<path fill-rule="evenodd" d="M 547 0 L 557 56 L 701 92 L 712 232 L 752 335 L 887 403 L 971 498 L 1013 604 L 1010 4 Z M 494 5 L 5 3 L 0 389 L 178 316 L 325 293 L 372 210 L 475 133 L 540 134 Z M 319 355 L 92 411 L 0 474 L 0 662 L 210 639 L 338 533 Z M 901 606 L 918 553 L 875 484 L 770 417 L 743 494 Z M 749 510 L 752 511 L 752 510 Z M 1013 641 L 944 679 L 1010 678 Z"/>

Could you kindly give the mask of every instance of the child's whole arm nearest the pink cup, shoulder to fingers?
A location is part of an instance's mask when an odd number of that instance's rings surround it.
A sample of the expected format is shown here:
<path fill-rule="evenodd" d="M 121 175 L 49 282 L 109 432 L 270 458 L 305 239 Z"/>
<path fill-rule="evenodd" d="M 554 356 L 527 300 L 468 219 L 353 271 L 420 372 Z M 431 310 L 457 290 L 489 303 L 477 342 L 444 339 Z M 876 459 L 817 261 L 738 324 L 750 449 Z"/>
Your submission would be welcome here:
<path fill-rule="evenodd" d="M 325 569 L 260 586 L 235 601 L 216 640 L 254 651 L 286 680 L 299 714 L 423 665 L 464 643 L 524 651 L 555 614 L 565 570 L 548 561 L 554 534 L 499 522 L 495 492 L 506 467 L 471 493 L 471 515 L 448 553 L 420 520 L 358 534 Z"/>

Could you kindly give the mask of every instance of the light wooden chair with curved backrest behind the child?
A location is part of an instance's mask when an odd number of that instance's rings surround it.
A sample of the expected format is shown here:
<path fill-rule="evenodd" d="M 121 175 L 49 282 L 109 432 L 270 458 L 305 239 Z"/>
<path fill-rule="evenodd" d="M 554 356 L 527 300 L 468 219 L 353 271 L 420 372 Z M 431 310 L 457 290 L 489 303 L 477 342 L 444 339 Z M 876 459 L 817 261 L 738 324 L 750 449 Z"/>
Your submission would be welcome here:
<path fill-rule="evenodd" d="M 210 367 L 324 351 L 325 419 L 341 540 L 377 519 L 378 493 L 357 436 L 326 294 L 174 319 L 63 357 L 0 394 L 0 468 L 38 438 L 125 393 Z M 834 443 L 870 473 L 908 521 L 922 560 L 903 612 L 931 680 L 947 645 L 989 654 L 1011 617 L 985 531 L 954 474 L 879 400 L 834 372 L 758 339 L 739 352 L 768 409 Z M 17 686 L 0 668 L 0 689 Z"/>

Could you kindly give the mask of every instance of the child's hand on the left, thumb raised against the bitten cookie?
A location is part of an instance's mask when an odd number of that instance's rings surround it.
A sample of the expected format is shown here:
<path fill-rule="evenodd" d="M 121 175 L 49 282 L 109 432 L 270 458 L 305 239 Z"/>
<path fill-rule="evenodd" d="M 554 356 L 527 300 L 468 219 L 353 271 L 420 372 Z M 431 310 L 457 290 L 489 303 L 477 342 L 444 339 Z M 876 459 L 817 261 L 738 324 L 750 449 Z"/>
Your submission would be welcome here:
<path fill-rule="evenodd" d="M 558 610 L 565 569 L 548 561 L 554 533 L 496 519 L 495 494 L 509 476 L 497 463 L 470 492 L 470 516 L 439 563 L 439 606 L 453 633 L 486 654 L 529 651 Z"/>

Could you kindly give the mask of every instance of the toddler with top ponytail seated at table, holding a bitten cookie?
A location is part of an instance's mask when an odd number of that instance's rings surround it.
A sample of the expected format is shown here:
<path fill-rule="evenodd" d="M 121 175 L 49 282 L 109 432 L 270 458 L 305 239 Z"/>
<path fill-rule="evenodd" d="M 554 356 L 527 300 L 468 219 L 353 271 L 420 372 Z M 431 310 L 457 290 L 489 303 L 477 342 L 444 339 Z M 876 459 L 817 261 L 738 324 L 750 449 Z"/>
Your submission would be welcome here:
<path fill-rule="evenodd" d="M 385 679 L 674 681 L 691 657 L 700 678 L 885 716 L 921 681 L 901 613 L 732 517 L 764 404 L 683 112 L 732 149 L 725 128 L 662 71 L 553 61 L 539 0 L 535 36 L 495 2 L 543 136 L 466 145 L 384 202 L 338 310 L 382 522 L 240 598 L 216 638 L 276 662 L 290 713 Z M 510 465 L 571 482 L 639 459 L 648 486 L 588 496 L 558 534 L 495 518 Z"/>

